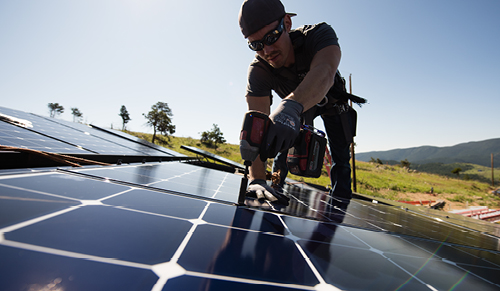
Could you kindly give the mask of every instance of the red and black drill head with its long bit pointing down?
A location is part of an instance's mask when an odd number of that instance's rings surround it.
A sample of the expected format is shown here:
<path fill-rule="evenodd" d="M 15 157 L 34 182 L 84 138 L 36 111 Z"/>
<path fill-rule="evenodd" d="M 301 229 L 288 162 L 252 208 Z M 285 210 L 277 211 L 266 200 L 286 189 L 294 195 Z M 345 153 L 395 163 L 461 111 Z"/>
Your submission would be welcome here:
<path fill-rule="evenodd" d="M 243 126 L 240 133 L 240 154 L 241 158 L 245 161 L 245 173 L 241 180 L 240 193 L 238 196 L 238 205 L 245 204 L 245 194 L 248 186 L 248 167 L 252 162 L 264 154 L 266 146 L 267 130 L 271 120 L 269 117 L 259 111 L 248 111 L 243 120 Z"/>

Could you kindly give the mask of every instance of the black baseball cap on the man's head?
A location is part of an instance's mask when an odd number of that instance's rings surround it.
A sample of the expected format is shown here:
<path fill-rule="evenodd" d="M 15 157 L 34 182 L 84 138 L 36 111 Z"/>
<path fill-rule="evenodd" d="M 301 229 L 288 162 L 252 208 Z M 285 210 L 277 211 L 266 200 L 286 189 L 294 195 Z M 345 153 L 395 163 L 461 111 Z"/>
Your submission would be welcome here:
<path fill-rule="evenodd" d="M 247 38 L 269 23 L 280 20 L 286 14 L 297 15 L 285 12 L 280 0 L 245 0 L 239 15 L 241 32 Z"/>

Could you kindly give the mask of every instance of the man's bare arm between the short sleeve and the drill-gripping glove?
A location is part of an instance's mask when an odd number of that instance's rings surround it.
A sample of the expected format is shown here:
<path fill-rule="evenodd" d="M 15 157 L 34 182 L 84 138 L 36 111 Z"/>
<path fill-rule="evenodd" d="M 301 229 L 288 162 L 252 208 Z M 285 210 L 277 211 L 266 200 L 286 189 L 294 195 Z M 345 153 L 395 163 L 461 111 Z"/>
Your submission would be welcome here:
<path fill-rule="evenodd" d="M 304 106 L 303 112 L 320 103 L 333 86 L 341 55 L 337 45 L 330 45 L 318 51 L 306 77 L 286 99 L 301 103 Z"/>

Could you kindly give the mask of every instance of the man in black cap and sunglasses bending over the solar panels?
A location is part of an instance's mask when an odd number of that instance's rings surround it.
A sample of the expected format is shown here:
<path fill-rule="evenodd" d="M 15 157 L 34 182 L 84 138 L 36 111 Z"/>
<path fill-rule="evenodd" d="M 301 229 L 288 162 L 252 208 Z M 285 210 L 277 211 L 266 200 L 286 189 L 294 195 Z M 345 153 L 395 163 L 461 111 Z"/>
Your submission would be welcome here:
<path fill-rule="evenodd" d="M 281 185 L 288 172 L 286 152 L 297 138 L 300 125 L 304 118 L 310 124 L 321 114 L 335 163 L 331 172 L 331 194 L 350 199 L 349 142 L 340 111 L 332 101 L 335 99 L 329 96 L 341 57 L 337 36 L 326 23 L 292 30 L 291 17 L 295 15 L 286 13 L 280 0 L 243 3 L 240 28 L 250 49 L 257 53 L 248 71 L 248 109 L 268 114 L 272 121 L 267 136 L 268 154 L 269 157 L 277 155 L 273 172 L 281 170 Z M 282 98 L 273 112 L 270 112 L 271 90 Z M 331 104 L 320 108 L 326 100 Z M 342 108 L 345 103 L 341 104 Z M 265 163 L 257 158 L 250 167 L 248 191 L 258 198 L 276 201 L 281 195 L 266 184 L 265 170 Z"/>

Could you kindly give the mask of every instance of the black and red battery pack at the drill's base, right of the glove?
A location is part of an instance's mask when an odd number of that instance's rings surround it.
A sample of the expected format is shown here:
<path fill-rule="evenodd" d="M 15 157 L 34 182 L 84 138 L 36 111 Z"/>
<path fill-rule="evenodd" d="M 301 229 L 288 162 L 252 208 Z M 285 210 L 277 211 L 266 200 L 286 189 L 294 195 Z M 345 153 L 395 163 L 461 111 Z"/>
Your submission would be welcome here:
<path fill-rule="evenodd" d="M 325 134 L 303 125 L 295 144 L 288 150 L 288 170 L 297 176 L 318 178 L 321 176 L 325 149 Z"/>

